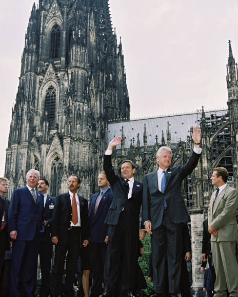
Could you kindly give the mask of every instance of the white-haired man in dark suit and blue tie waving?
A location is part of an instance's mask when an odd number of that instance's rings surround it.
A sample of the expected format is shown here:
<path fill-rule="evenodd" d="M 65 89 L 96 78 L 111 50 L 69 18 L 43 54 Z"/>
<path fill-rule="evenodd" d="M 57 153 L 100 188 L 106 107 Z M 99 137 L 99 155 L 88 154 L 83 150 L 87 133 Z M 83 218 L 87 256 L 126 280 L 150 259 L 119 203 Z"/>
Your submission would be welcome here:
<path fill-rule="evenodd" d="M 182 223 L 189 221 L 181 193 L 183 179 L 196 167 L 201 154 L 201 130 L 192 133 L 194 150 L 184 166 L 169 168 L 171 149 L 160 147 L 156 157 L 159 168 L 144 177 L 142 221 L 151 234 L 153 283 L 157 296 L 164 295 L 166 257 L 170 296 L 180 292 Z"/>

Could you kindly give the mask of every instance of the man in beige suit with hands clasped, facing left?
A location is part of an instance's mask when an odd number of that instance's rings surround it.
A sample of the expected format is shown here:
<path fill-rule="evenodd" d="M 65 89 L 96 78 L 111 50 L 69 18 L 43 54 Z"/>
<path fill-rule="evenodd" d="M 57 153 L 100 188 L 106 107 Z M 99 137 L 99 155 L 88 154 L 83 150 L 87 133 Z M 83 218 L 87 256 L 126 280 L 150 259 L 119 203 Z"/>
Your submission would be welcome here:
<path fill-rule="evenodd" d="M 211 196 L 208 207 L 208 231 L 211 234 L 211 250 L 214 260 L 216 297 L 238 296 L 238 264 L 235 257 L 235 241 L 238 240 L 236 209 L 237 190 L 230 187 L 227 169 L 213 169 L 211 182 L 216 190 Z"/>

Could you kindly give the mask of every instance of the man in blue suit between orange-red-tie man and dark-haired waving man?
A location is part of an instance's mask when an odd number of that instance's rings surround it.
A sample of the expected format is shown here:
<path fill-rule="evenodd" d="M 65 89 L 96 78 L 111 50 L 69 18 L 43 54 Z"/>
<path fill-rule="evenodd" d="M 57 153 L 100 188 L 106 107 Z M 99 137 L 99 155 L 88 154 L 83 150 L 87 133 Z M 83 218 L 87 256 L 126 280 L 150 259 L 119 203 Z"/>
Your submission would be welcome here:
<path fill-rule="evenodd" d="M 97 181 L 100 191 L 91 196 L 88 208 L 90 229 L 89 248 L 93 278 L 90 297 L 98 297 L 103 292 L 103 271 L 108 243 L 108 225 L 104 222 L 113 195 L 105 173 L 101 172 L 98 175 Z"/>

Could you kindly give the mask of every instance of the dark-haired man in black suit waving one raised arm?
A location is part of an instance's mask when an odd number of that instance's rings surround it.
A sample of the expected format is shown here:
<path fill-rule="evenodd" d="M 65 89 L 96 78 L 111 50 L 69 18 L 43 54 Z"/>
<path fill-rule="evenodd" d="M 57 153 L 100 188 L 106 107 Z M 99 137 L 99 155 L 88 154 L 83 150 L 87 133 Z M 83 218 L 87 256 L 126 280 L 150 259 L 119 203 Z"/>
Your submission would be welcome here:
<path fill-rule="evenodd" d="M 122 137 L 114 137 L 104 156 L 104 171 L 112 187 L 113 199 L 105 223 L 109 225 L 108 250 L 104 269 L 104 296 L 111 296 L 115 288 L 120 265 L 122 265 L 122 291 L 133 296 L 137 245 L 140 228 L 140 207 L 143 183 L 134 180 L 135 167 L 130 160 L 121 164 L 122 176 L 112 169 L 113 147 L 120 144 Z M 145 230 L 140 231 L 140 239 Z"/>

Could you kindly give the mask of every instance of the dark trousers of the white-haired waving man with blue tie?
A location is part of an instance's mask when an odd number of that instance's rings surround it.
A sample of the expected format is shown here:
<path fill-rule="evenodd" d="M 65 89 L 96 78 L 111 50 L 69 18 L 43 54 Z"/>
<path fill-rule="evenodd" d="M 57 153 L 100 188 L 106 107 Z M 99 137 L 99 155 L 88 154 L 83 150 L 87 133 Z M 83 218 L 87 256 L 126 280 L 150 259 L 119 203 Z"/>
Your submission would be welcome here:
<path fill-rule="evenodd" d="M 180 292 L 182 224 L 174 224 L 164 209 L 160 227 L 152 230 L 153 284 L 156 293 L 165 293 L 165 265 L 168 265 L 169 293 Z"/>

